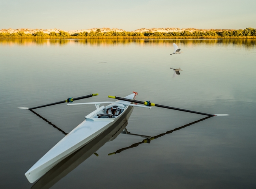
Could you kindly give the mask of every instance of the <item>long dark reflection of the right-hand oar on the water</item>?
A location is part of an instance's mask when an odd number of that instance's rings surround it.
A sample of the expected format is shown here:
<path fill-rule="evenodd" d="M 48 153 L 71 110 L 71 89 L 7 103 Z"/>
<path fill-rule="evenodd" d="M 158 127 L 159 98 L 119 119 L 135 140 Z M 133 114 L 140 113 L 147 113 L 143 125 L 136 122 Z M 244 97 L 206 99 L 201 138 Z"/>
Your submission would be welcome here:
<path fill-rule="evenodd" d="M 162 133 L 162 134 L 156 135 L 156 136 L 154 136 L 154 137 L 151 137 L 150 139 L 144 139 L 143 141 L 141 141 L 141 142 L 139 142 L 139 143 L 135 143 L 135 144 L 133 144 L 133 145 L 131 145 L 131 146 L 128 146 L 128 147 L 126 147 L 126 148 L 121 148 L 121 149 L 119 149 L 119 150 L 116 150 L 116 152 L 110 153 L 110 154 L 108 154 L 108 156 L 113 155 L 113 154 L 118 154 L 118 153 L 122 152 L 123 150 L 127 150 L 127 149 L 130 149 L 130 148 L 135 148 L 136 146 L 138 146 L 138 145 L 140 145 L 140 144 L 150 143 L 150 141 L 152 141 L 152 140 L 154 140 L 154 139 L 157 139 L 157 138 L 159 138 L 159 137 L 163 137 L 163 136 L 166 135 L 166 134 L 170 134 L 170 133 L 172 133 L 172 132 L 174 132 L 174 131 L 178 131 L 178 130 L 183 129 L 183 128 L 185 128 L 185 127 L 191 126 L 192 124 L 195 124 L 195 123 L 198 123 L 198 122 L 200 122 L 200 121 L 206 120 L 206 119 L 208 119 L 208 118 L 210 118 L 210 117 L 211 117 L 211 116 L 208 116 L 208 117 L 205 117 L 205 118 L 203 118 L 203 119 L 194 121 L 194 122 L 192 122 L 192 123 L 183 125 L 183 126 L 178 127 L 178 128 L 176 128 L 176 129 L 174 129 L 174 130 L 170 130 L 170 131 L 167 131 L 167 132 L 165 132 L 165 133 Z"/>

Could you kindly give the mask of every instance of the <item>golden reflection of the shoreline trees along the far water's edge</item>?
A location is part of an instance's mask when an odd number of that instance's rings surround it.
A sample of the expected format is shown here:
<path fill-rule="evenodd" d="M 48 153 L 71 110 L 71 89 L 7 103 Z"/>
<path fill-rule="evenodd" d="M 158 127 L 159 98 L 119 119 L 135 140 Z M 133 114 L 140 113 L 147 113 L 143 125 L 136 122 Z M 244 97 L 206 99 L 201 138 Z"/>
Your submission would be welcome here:
<path fill-rule="evenodd" d="M 207 45 L 234 45 L 255 48 L 256 39 L 0 39 L 1 45 L 66 45 L 79 43 L 84 45 L 113 46 L 118 44 L 138 45 L 167 45 L 178 43 L 184 46 L 207 44 Z"/>

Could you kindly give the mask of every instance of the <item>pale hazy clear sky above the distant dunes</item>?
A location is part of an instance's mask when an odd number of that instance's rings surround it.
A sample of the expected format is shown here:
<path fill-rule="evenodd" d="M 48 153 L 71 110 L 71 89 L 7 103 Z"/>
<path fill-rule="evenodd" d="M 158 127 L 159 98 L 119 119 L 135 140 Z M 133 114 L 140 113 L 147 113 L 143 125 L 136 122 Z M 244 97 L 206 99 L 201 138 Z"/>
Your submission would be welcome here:
<path fill-rule="evenodd" d="M 255 0 L 0 0 L 1 29 L 256 28 Z"/>

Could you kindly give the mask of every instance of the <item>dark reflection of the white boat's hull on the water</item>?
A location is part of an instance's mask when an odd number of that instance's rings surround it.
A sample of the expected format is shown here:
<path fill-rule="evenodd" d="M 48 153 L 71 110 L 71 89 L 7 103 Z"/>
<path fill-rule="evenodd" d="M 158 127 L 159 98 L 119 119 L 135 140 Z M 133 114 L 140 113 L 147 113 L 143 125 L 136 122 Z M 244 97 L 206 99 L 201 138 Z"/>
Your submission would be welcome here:
<path fill-rule="evenodd" d="M 52 187 L 55 183 L 65 177 L 69 172 L 74 170 L 87 158 L 92 156 L 101 146 L 108 141 L 115 139 L 127 126 L 128 119 L 133 111 L 133 107 L 129 107 L 125 113 L 123 113 L 118 121 L 110 126 L 105 132 L 101 133 L 98 137 L 93 139 L 90 143 L 83 146 L 75 153 L 71 154 L 55 167 L 49 170 L 42 178 L 40 178 L 33 186 L 32 189 L 47 189 Z"/>

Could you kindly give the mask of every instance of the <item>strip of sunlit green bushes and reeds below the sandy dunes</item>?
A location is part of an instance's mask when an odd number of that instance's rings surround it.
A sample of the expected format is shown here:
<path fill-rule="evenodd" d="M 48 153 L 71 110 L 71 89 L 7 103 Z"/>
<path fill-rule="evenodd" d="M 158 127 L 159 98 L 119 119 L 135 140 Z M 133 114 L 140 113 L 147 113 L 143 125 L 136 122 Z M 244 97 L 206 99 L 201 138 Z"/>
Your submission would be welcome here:
<path fill-rule="evenodd" d="M 0 38 L 243 38 L 256 37 L 256 29 L 246 28 L 244 30 L 224 30 L 224 31 L 182 31 L 182 32 L 101 32 L 100 29 L 90 32 L 80 32 L 69 34 L 65 31 L 43 33 L 38 31 L 36 33 L 24 33 L 19 31 L 17 33 L 0 33 Z"/>

